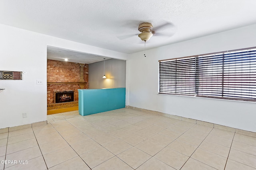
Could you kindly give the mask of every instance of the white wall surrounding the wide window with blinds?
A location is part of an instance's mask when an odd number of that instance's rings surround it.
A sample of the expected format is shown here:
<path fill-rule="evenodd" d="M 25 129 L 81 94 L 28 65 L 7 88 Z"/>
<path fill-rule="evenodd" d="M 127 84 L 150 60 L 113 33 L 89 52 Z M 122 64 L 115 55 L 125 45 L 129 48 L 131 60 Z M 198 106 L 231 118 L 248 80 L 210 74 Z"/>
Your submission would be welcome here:
<path fill-rule="evenodd" d="M 158 60 L 256 46 L 256 24 L 134 53 L 127 61 L 126 105 L 256 132 L 256 103 L 158 94 Z"/>

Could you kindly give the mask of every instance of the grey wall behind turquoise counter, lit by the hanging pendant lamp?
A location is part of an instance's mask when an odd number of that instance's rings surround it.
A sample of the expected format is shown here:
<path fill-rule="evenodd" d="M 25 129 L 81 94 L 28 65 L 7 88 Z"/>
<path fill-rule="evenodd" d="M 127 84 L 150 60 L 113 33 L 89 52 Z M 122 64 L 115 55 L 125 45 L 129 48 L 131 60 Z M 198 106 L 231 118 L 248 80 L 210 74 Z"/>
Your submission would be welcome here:
<path fill-rule="evenodd" d="M 126 85 L 126 61 L 109 59 L 105 61 L 105 74 L 107 78 L 102 78 L 104 74 L 104 61 L 89 64 L 89 88 L 120 88 Z"/>

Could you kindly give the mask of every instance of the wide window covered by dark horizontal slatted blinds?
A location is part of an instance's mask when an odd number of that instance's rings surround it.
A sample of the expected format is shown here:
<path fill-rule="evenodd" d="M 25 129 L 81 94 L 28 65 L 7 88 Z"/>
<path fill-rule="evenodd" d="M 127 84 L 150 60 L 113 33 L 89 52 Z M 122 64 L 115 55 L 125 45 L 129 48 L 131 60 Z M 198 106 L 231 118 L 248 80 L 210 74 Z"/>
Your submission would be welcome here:
<path fill-rule="evenodd" d="M 256 47 L 159 61 L 159 93 L 256 101 Z"/>

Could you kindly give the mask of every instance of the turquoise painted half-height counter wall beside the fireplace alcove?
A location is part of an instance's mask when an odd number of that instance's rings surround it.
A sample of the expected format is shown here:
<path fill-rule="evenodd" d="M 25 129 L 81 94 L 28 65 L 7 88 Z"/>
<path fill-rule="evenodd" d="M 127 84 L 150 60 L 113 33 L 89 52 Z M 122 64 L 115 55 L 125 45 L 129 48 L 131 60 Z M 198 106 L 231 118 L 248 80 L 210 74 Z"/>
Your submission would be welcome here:
<path fill-rule="evenodd" d="M 78 111 L 82 116 L 125 107 L 125 88 L 78 89 Z"/>

